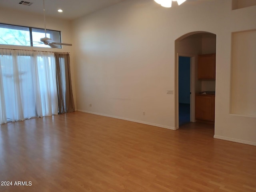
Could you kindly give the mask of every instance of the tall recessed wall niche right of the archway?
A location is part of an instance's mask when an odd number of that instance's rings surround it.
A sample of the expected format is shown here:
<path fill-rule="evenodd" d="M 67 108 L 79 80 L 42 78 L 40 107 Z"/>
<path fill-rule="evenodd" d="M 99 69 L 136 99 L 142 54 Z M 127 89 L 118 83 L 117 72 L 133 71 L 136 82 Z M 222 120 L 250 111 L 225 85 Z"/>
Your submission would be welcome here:
<path fill-rule="evenodd" d="M 256 30 L 232 33 L 230 113 L 256 117 Z"/>

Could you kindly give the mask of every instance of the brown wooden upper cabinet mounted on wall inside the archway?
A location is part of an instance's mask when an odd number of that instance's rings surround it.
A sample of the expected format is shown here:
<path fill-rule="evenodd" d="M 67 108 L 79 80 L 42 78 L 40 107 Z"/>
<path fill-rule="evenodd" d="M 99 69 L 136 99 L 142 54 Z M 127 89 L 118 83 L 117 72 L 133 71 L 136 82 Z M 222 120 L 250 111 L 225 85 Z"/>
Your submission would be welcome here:
<path fill-rule="evenodd" d="M 198 79 L 215 80 L 216 54 L 198 55 Z"/>

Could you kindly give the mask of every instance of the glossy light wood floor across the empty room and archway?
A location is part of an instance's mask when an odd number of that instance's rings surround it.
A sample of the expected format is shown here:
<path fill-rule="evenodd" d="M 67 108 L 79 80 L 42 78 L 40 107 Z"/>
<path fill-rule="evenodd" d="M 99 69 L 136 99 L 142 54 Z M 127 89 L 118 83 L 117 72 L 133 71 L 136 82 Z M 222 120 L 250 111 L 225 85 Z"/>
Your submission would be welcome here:
<path fill-rule="evenodd" d="M 256 192 L 256 147 L 73 112 L 0 126 L 1 192 Z"/>

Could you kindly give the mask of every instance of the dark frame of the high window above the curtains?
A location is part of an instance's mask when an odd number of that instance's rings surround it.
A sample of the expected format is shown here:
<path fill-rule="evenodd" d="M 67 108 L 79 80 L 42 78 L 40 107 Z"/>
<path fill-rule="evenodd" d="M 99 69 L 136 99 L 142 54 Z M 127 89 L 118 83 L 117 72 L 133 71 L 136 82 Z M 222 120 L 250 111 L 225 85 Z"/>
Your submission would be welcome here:
<path fill-rule="evenodd" d="M 28 26 L 21 26 L 21 25 L 12 25 L 12 24 L 6 24 L 6 23 L 0 23 L 0 28 L 2 28 L 1 25 L 6 25 L 6 26 L 10 26 L 10 28 L 7 29 L 15 29 L 15 27 L 24 27 L 24 28 L 28 28 L 29 31 L 29 36 L 30 36 L 30 47 L 40 47 L 40 48 L 51 48 L 49 47 L 41 47 L 41 46 L 34 46 L 33 45 L 33 36 L 32 36 L 32 29 L 36 29 L 36 30 L 42 30 L 44 32 L 44 28 L 36 28 L 36 27 L 28 27 Z M 14 26 L 14 28 L 12 28 L 11 26 Z M 58 30 L 50 30 L 50 29 L 46 29 L 46 31 L 50 31 L 50 32 L 58 32 L 60 34 L 60 42 L 61 42 L 61 31 Z M 0 45 L 12 45 L 12 46 L 29 46 L 29 45 L 15 45 L 15 44 L 2 44 L 0 43 Z M 62 49 L 62 46 L 60 45 L 60 47 L 57 47 L 58 49 Z"/>

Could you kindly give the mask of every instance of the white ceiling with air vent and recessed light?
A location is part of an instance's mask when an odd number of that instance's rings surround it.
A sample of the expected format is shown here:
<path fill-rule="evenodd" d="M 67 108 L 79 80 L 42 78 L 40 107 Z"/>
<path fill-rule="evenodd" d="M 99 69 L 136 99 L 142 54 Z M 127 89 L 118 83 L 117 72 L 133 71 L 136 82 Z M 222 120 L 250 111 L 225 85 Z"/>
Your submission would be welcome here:
<path fill-rule="evenodd" d="M 20 1 L 0 0 L 0 7 L 43 14 L 43 0 L 25 0 L 33 3 L 30 6 L 19 4 Z M 73 20 L 122 1 L 124 0 L 45 0 L 45 13 L 47 16 Z M 58 9 L 63 12 L 59 13 Z"/>

